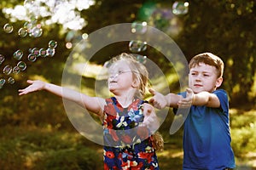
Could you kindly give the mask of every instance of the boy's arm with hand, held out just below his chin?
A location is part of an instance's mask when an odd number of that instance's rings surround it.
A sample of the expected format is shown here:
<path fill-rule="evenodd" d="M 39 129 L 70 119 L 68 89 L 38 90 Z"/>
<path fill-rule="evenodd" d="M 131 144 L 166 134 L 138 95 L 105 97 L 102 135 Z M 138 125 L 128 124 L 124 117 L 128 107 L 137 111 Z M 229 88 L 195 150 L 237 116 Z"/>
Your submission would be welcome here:
<path fill-rule="evenodd" d="M 206 105 L 207 107 L 218 108 L 220 107 L 220 102 L 215 94 L 206 91 L 194 94 L 192 89 L 187 88 L 186 98 L 181 99 L 178 102 L 178 106 L 189 107 L 190 105 Z"/>

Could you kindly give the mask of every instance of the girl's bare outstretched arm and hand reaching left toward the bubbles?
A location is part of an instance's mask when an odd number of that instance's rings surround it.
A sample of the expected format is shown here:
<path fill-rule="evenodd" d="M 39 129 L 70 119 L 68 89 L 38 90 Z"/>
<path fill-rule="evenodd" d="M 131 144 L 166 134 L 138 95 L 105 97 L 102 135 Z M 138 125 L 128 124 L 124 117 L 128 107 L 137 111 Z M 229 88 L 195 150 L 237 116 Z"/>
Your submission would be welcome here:
<path fill-rule="evenodd" d="M 24 89 L 19 90 L 19 95 L 29 94 L 39 90 L 46 90 L 49 93 L 60 96 L 64 99 L 71 100 L 85 109 L 96 113 L 98 116 L 102 116 L 105 100 L 97 97 L 90 97 L 85 94 L 81 94 L 70 88 L 63 88 L 52 83 L 43 82 L 40 80 L 28 80 L 30 85 Z"/>

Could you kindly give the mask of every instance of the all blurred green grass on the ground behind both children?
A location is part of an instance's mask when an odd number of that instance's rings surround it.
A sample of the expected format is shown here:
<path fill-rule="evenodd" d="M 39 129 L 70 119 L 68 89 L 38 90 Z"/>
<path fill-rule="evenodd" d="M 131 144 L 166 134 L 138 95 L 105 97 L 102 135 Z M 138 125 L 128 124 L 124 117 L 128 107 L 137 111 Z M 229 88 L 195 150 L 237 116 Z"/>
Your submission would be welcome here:
<path fill-rule="evenodd" d="M 230 110 L 232 147 L 236 169 L 256 169 L 256 111 Z M 165 150 L 158 152 L 162 170 L 182 169 L 183 131 L 170 135 L 172 117 L 160 127 Z M 69 127 L 72 129 L 72 127 Z M 0 128 L 0 167 L 3 170 L 102 169 L 102 146 L 77 131 L 50 126 L 9 126 Z"/>

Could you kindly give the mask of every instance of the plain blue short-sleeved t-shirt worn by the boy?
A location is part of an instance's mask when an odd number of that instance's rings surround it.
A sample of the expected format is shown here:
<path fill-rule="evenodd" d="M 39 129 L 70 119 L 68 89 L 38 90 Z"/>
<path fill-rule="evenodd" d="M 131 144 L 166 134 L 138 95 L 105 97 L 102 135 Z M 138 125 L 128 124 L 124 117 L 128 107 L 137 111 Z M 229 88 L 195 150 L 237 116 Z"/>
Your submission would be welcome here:
<path fill-rule="evenodd" d="M 184 122 L 183 170 L 236 167 L 230 146 L 228 96 L 222 89 L 213 94 L 218 96 L 220 108 L 192 105 Z M 186 92 L 180 95 L 185 97 Z"/>

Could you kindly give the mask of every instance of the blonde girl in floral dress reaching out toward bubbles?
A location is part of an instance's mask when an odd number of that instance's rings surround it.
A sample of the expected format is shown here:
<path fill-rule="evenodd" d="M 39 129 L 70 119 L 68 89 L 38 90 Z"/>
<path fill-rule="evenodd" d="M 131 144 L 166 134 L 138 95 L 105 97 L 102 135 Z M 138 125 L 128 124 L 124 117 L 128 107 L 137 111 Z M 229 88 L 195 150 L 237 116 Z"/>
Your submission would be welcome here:
<path fill-rule="evenodd" d="M 62 87 L 42 81 L 20 89 L 20 95 L 37 90 L 72 100 L 96 113 L 102 121 L 104 138 L 104 169 L 159 169 L 155 149 L 162 146 L 159 127 L 151 105 L 143 101 L 148 83 L 148 71 L 131 54 L 120 54 L 112 59 L 108 73 L 108 89 L 112 98 L 102 99 L 80 94 L 70 89 L 62 94 Z"/>

